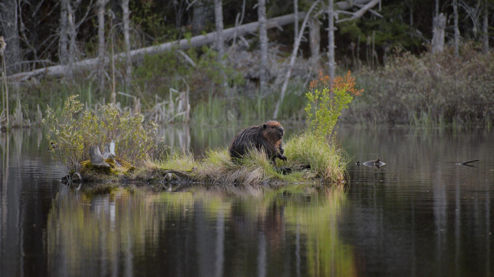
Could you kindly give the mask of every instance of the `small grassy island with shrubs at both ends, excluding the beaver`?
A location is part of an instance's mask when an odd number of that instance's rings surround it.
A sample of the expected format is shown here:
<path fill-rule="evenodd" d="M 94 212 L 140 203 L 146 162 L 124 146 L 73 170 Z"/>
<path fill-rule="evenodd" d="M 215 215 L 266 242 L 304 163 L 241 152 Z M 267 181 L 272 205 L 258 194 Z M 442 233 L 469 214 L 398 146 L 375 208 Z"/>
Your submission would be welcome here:
<path fill-rule="evenodd" d="M 363 90 L 354 88 L 350 71 L 334 79 L 319 75 L 306 93 L 307 129 L 288 138 L 283 145 L 287 160 L 277 160 L 276 165 L 256 149 L 233 161 L 226 147 L 207 149 L 201 159 L 183 150 L 166 151 L 157 159 L 157 124 L 145 124 L 143 115 L 122 114 L 111 104 L 97 113 L 81 114 L 83 104 L 77 95 L 69 97 L 61 111 L 48 107 L 43 123 L 53 158 L 66 169 L 69 182 L 342 183 L 348 159 L 335 143 L 335 126 L 342 109 Z M 291 173 L 283 174 L 275 166 L 288 167 Z"/>

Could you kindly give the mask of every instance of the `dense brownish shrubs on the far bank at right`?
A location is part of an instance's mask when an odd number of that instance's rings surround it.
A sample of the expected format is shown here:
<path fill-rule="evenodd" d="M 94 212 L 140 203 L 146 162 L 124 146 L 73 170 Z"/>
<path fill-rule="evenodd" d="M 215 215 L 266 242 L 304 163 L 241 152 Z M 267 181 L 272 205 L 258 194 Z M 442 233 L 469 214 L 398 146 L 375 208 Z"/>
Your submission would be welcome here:
<path fill-rule="evenodd" d="M 491 125 L 494 118 L 494 53 L 463 45 L 420 57 L 396 54 L 380 69 L 363 69 L 359 83 L 366 94 L 352 104 L 348 121 Z"/>

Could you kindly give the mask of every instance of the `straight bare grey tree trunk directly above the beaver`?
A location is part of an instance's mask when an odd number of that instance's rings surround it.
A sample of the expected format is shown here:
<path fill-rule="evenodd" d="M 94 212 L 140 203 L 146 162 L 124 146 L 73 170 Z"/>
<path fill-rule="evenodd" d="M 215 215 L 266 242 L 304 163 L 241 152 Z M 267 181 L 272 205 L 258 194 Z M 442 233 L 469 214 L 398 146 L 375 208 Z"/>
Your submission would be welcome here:
<path fill-rule="evenodd" d="M 259 42 L 261 44 L 261 71 L 259 73 L 259 92 L 266 93 L 268 69 L 268 32 L 266 29 L 266 0 L 257 1 L 257 18 L 259 21 Z"/>

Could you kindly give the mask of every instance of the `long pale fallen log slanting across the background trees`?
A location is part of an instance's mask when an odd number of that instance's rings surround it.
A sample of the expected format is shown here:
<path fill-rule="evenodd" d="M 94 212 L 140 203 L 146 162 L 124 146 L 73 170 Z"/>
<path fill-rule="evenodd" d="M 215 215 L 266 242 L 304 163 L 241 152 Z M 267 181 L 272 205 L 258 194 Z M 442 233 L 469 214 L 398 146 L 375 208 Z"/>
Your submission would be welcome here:
<path fill-rule="evenodd" d="M 303 17 L 305 16 L 305 12 L 299 12 L 299 16 Z M 299 17 L 299 18 L 300 18 Z M 279 28 L 280 26 L 292 24 L 295 21 L 295 16 L 294 14 L 288 14 L 288 15 L 283 15 L 279 17 L 274 17 L 269 19 L 266 22 L 266 28 L 271 29 L 271 28 Z M 241 26 L 233 27 L 233 28 L 228 28 L 223 30 L 223 37 L 224 39 L 228 39 L 234 36 L 235 32 L 237 32 L 237 36 L 240 35 L 247 35 L 249 33 L 255 33 L 257 28 L 259 27 L 259 22 L 252 22 L 252 23 L 247 23 Z M 142 57 L 145 54 L 156 54 L 156 53 L 161 53 L 166 50 L 170 50 L 173 47 L 176 47 L 181 50 L 185 50 L 191 47 L 197 47 L 197 46 L 202 46 L 204 44 L 212 43 L 215 40 L 216 32 L 208 33 L 206 35 L 197 35 L 193 36 L 190 39 L 184 38 L 180 39 L 178 41 L 170 41 L 166 43 L 162 43 L 159 45 L 154 45 L 154 46 L 149 46 L 149 47 L 144 47 L 144 48 L 139 48 L 130 51 L 130 57 L 131 58 L 136 58 L 136 57 Z M 126 52 L 121 52 L 118 54 L 115 54 L 113 58 L 115 59 L 125 59 L 127 53 Z M 87 59 L 87 60 L 82 60 L 79 62 L 76 62 L 72 65 L 74 69 L 87 69 L 94 67 L 98 65 L 100 62 L 99 58 L 92 58 L 92 59 Z M 108 64 L 110 62 L 109 57 L 105 57 L 104 63 Z M 68 70 L 70 69 L 69 65 L 58 65 L 58 66 L 52 66 L 52 67 L 46 67 L 46 68 L 41 68 L 41 69 L 35 69 L 32 71 L 28 72 L 20 72 L 16 73 L 13 75 L 8 76 L 7 78 L 9 80 L 16 80 L 16 81 L 24 81 L 27 80 L 33 76 L 39 75 L 39 74 L 44 74 L 48 76 L 61 76 L 64 75 Z"/>

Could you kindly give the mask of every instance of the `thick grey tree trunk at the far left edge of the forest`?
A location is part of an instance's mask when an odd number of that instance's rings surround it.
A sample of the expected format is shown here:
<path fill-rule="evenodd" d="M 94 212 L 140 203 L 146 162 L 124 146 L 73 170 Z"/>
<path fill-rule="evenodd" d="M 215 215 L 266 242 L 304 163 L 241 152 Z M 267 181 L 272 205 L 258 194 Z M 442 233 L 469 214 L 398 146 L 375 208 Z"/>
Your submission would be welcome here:
<path fill-rule="evenodd" d="M 2 0 L 0 2 L 1 33 L 5 39 L 5 63 L 8 73 L 17 73 L 21 69 L 21 48 L 19 44 L 19 25 L 17 17 L 17 1 Z"/>

